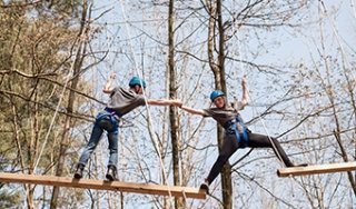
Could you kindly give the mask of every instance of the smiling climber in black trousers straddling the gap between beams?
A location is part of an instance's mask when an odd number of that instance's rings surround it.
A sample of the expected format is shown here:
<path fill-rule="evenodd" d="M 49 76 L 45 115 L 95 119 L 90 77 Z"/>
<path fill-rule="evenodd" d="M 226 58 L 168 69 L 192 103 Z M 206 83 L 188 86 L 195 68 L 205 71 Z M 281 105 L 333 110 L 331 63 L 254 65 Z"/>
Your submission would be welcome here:
<path fill-rule="evenodd" d="M 294 167 L 295 165 L 289 160 L 288 156 L 281 148 L 280 143 L 273 137 L 253 133 L 244 123 L 239 110 L 248 103 L 248 93 L 246 88 L 246 79 L 243 79 L 243 99 L 239 102 L 229 104 L 226 102 L 225 93 L 220 90 L 215 90 L 210 93 L 211 102 L 216 106 L 209 109 L 194 109 L 187 106 L 181 106 L 182 110 L 189 113 L 200 115 L 202 117 L 211 117 L 225 129 L 225 137 L 220 153 L 214 163 L 205 182 L 200 189 L 209 192 L 209 185 L 222 170 L 224 165 L 239 148 L 273 148 L 276 156 L 287 166 Z M 306 166 L 306 165 L 299 165 Z"/>

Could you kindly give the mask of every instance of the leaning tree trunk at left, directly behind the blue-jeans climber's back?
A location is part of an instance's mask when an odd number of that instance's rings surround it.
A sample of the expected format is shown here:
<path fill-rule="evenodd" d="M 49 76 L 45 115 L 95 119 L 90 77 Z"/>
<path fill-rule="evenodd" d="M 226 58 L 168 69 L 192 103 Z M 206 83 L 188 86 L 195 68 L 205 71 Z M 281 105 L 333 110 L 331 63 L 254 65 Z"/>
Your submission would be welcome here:
<path fill-rule="evenodd" d="M 78 34 L 78 40 L 79 40 L 79 47 L 77 50 L 76 54 L 76 60 L 73 64 L 73 79 L 71 80 L 70 89 L 77 89 L 78 82 L 79 82 L 79 74 L 81 70 L 81 66 L 85 58 L 85 51 L 86 51 L 86 46 L 80 41 L 86 33 L 85 28 L 86 28 L 86 20 L 87 20 L 87 9 L 88 4 L 87 1 L 83 1 L 83 9 L 82 9 L 82 16 L 81 16 L 81 24 L 80 24 L 80 30 Z M 73 43 L 76 44 L 76 43 Z M 75 99 L 76 94 L 75 91 L 70 90 L 69 96 L 68 96 L 68 103 L 67 103 L 67 112 L 69 115 L 73 113 L 73 106 L 75 106 Z M 65 119 L 65 127 L 63 127 L 63 132 L 60 141 L 60 148 L 59 148 L 59 156 L 58 156 L 58 163 L 57 163 L 57 170 L 56 170 L 56 176 L 62 176 L 63 172 L 63 167 L 65 167 L 65 159 L 66 159 L 66 152 L 69 146 L 69 130 L 71 128 L 71 116 L 66 115 Z M 59 197 L 59 187 L 53 187 L 52 191 L 52 197 L 51 197 L 51 209 L 56 209 L 58 207 L 58 197 Z"/>

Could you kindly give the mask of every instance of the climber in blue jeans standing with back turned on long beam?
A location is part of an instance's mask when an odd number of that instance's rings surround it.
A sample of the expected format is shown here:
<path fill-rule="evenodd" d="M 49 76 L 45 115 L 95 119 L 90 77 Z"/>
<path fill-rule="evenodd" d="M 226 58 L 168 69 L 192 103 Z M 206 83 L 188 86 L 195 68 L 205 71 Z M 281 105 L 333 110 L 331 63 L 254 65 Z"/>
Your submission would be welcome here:
<path fill-rule="evenodd" d="M 181 106 L 180 100 L 169 100 L 169 99 L 145 99 L 142 96 L 144 89 L 146 88 L 146 81 L 132 77 L 129 81 L 129 89 L 122 87 L 112 88 L 112 81 L 116 79 L 116 74 L 112 73 L 105 88 L 102 89 L 103 93 L 110 96 L 110 100 L 107 107 L 98 113 L 96 121 L 93 123 L 92 132 L 89 139 L 89 142 L 85 147 L 77 169 L 75 172 L 75 178 L 82 178 L 83 169 L 98 146 L 101 135 L 103 131 L 107 131 L 108 141 L 109 141 L 109 161 L 108 170 L 106 178 L 110 181 L 117 179 L 117 163 L 118 163 L 118 127 L 119 119 L 134 110 L 139 106 L 154 104 L 154 106 Z"/>

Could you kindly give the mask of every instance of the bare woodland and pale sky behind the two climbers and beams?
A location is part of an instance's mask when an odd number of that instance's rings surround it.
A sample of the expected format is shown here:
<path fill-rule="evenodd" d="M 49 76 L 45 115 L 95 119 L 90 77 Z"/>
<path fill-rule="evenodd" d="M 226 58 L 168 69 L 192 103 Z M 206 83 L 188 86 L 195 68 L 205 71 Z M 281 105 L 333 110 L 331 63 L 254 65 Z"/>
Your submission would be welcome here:
<path fill-rule="evenodd" d="M 71 177 L 111 72 L 147 98 L 210 106 L 241 97 L 254 132 L 277 137 L 291 160 L 355 161 L 354 0 L 0 1 L 0 171 Z M 199 187 L 221 127 L 176 108 L 123 118 L 119 180 Z M 103 136 L 86 178 L 103 179 Z M 268 149 L 240 149 L 207 200 L 0 185 L 0 208 L 353 208 L 355 171 L 280 179 Z"/>

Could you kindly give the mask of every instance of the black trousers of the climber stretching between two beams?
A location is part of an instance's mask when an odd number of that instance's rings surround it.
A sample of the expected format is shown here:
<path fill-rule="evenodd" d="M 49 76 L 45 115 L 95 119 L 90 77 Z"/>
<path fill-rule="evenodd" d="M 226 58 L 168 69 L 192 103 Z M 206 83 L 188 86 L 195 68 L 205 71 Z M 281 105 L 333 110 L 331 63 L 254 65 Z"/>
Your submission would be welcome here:
<path fill-rule="evenodd" d="M 271 145 L 270 140 L 274 142 L 274 146 L 276 149 Z M 241 148 L 241 147 L 244 147 L 244 146 L 238 145 L 236 136 L 234 133 L 225 136 L 221 151 L 218 156 L 218 159 L 214 163 L 214 166 L 209 172 L 209 176 L 207 178 L 209 183 L 211 183 L 216 179 L 216 177 L 220 173 L 220 171 L 221 171 L 224 165 L 227 162 L 227 160 L 235 153 L 235 151 L 238 148 Z M 275 138 L 270 137 L 270 139 L 269 139 L 267 136 L 264 136 L 264 135 L 248 132 L 248 143 L 246 145 L 246 147 L 249 147 L 249 148 L 273 148 L 276 156 L 277 157 L 280 156 L 280 158 L 281 158 L 280 160 L 287 167 L 294 166 L 291 163 L 291 161 L 289 160 L 285 150 L 281 148 L 280 143 Z"/>

